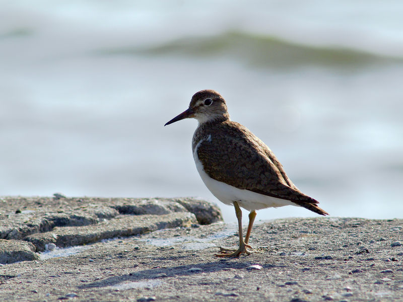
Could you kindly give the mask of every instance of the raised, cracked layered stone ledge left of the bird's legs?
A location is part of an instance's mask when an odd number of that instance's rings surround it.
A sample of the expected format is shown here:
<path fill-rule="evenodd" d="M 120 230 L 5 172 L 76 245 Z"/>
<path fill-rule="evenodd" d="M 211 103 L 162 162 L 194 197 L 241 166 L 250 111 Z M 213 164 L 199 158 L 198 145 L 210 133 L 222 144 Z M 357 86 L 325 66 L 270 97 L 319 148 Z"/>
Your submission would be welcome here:
<path fill-rule="evenodd" d="M 186 208 L 182 200 L 197 206 Z M 37 251 L 84 245 L 197 223 L 191 210 L 200 215 L 201 208 L 204 223 L 222 220 L 216 205 L 191 198 L 0 197 L 0 239 L 29 241 Z M 9 252 L 14 261 L 28 257 L 25 250 Z"/>

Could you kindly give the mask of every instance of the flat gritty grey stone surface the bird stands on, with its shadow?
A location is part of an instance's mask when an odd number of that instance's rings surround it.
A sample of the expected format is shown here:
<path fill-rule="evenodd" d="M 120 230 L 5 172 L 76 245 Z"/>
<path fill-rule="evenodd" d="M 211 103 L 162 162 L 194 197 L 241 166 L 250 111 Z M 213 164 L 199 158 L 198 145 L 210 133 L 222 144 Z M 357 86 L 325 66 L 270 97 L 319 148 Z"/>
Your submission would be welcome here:
<path fill-rule="evenodd" d="M 403 247 L 391 243 L 403 239 L 403 219 L 256 222 L 249 256 L 214 257 L 218 246 L 236 246 L 235 224 L 164 229 L 1 266 L 0 293 L 8 301 L 401 301 Z"/>

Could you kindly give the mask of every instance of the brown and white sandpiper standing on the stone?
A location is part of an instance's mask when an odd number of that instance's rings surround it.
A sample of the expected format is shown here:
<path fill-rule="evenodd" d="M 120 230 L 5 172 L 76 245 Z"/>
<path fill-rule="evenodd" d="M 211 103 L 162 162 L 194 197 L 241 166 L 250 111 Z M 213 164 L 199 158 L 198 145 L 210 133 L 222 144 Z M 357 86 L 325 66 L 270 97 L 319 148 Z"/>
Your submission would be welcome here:
<path fill-rule="evenodd" d="M 288 178 L 270 148 L 243 125 L 230 120 L 224 98 L 214 90 L 195 93 L 189 108 L 165 124 L 195 118 L 192 151 L 198 173 L 220 201 L 234 205 L 239 248 L 220 248 L 217 257 L 250 254 L 248 245 L 256 210 L 285 205 L 302 206 L 328 215 L 317 200 L 303 194 Z M 242 237 L 242 211 L 249 210 L 249 225 Z"/>

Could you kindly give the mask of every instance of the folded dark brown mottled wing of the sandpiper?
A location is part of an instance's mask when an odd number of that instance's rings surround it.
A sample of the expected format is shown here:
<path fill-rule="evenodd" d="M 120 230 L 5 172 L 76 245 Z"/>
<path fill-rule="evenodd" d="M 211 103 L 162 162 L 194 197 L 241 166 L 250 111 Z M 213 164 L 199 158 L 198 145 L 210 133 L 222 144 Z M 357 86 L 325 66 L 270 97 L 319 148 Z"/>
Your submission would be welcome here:
<path fill-rule="evenodd" d="M 224 127 L 223 131 L 212 131 L 211 137 L 201 141 L 196 150 L 210 177 L 238 189 L 290 200 L 299 205 L 318 203 L 291 183 L 275 155 L 249 130 L 240 127 L 240 124 Z M 233 154 L 236 156 L 231 156 Z"/>

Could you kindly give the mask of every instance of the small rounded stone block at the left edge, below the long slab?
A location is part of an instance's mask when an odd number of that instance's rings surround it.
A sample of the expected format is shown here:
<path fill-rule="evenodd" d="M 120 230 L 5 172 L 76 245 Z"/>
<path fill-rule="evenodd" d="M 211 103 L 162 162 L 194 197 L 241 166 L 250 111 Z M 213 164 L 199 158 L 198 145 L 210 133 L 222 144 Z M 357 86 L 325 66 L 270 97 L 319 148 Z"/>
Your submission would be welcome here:
<path fill-rule="evenodd" d="M 38 260 L 32 243 L 18 240 L 0 239 L 0 263 L 7 264 L 16 261 Z"/>

